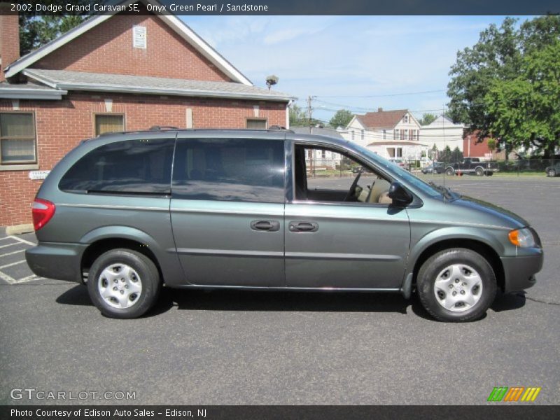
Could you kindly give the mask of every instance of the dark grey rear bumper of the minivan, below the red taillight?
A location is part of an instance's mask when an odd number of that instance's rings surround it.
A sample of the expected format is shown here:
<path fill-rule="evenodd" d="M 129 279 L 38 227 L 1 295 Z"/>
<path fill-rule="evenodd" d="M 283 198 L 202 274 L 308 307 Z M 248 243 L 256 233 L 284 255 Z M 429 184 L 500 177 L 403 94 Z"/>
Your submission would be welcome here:
<path fill-rule="evenodd" d="M 86 245 L 39 242 L 25 251 L 27 265 L 37 276 L 81 283 L 80 261 Z"/>

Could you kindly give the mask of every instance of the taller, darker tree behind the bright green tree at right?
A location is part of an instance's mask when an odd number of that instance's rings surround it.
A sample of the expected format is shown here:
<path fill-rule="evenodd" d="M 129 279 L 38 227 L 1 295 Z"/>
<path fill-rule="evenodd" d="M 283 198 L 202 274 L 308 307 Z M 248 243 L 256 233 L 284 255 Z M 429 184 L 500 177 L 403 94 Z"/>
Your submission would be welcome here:
<path fill-rule="evenodd" d="M 528 66 L 526 57 L 542 52 L 560 38 L 558 15 L 527 20 L 519 28 L 516 27 L 516 22 L 515 19 L 505 18 L 499 28 L 490 25 L 481 32 L 479 41 L 472 48 L 457 52 L 456 63 L 449 72 L 451 80 L 447 85 L 447 95 L 451 99 L 448 104 L 449 116 L 456 122 L 469 125 L 471 131 L 477 130 L 479 141 L 489 137 L 493 130 L 500 127 L 506 150 L 515 146 L 517 139 L 511 130 L 505 130 L 503 118 L 501 123 L 496 121 L 498 113 L 496 110 L 489 110 L 491 99 L 496 102 L 498 97 L 505 99 L 503 95 L 507 94 L 512 99 L 512 90 L 516 89 L 517 94 L 522 94 L 527 89 L 526 85 L 515 83 L 517 87 L 507 85 L 508 89 L 504 89 L 505 85 L 502 83 L 516 80 Z M 493 92 L 488 97 L 491 90 Z M 498 94 L 499 90 L 502 91 L 502 96 Z M 552 98 L 552 94 L 549 98 Z M 497 106 L 496 103 L 494 105 Z M 552 129 L 552 121 L 549 125 Z M 535 147 L 552 147 L 549 142 L 542 143 L 536 139 L 536 132 L 533 137 L 535 139 L 532 144 Z"/>

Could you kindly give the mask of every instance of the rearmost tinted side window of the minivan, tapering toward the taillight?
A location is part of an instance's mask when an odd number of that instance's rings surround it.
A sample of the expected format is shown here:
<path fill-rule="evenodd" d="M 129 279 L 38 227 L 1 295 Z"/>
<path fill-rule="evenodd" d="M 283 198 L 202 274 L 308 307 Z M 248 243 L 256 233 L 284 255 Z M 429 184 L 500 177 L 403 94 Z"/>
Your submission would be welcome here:
<path fill-rule="evenodd" d="M 68 192 L 171 193 L 174 139 L 127 140 L 106 144 L 78 160 L 62 177 Z"/>

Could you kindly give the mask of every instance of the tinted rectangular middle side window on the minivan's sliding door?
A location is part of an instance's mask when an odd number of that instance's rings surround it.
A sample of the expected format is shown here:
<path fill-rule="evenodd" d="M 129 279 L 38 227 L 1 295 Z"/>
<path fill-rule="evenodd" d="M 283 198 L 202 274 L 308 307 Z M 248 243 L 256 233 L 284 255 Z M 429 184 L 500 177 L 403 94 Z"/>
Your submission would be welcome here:
<path fill-rule="evenodd" d="M 260 139 L 179 139 L 172 197 L 284 202 L 284 144 Z"/>

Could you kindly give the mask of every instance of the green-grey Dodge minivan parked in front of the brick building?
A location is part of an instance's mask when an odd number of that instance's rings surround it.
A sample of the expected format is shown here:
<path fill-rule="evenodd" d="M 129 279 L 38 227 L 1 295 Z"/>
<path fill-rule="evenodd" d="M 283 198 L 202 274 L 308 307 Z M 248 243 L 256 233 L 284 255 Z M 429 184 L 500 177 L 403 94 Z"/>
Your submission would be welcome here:
<path fill-rule="evenodd" d="M 315 178 L 334 153 L 363 170 Z M 348 185 L 342 185 L 347 181 Z M 38 276 L 87 283 L 134 318 L 169 288 L 416 290 L 442 321 L 529 288 L 540 239 L 515 214 L 424 183 L 356 144 L 289 130 L 106 134 L 62 159 L 33 204 Z"/>

